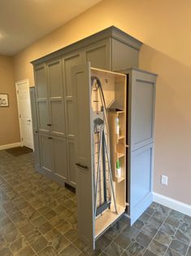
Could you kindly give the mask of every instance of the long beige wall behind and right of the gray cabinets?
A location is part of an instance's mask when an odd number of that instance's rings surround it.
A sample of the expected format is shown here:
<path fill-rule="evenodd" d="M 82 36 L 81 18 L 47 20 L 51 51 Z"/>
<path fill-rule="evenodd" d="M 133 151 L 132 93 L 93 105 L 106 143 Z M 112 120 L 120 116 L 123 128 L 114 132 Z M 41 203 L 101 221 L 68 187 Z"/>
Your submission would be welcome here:
<path fill-rule="evenodd" d="M 158 73 L 154 192 L 191 205 L 191 2 L 104 0 L 15 56 L 15 80 L 29 78 L 29 64 L 89 34 L 115 25 L 144 42 L 140 67 Z M 169 185 L 160 184 L 167 174 Z"/>

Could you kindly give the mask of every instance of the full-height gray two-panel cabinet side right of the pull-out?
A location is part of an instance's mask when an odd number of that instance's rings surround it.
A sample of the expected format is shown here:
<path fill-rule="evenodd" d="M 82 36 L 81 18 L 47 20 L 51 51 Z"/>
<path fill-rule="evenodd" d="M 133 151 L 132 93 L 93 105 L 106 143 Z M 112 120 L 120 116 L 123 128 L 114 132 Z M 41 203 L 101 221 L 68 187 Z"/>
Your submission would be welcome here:
<path fill-rule="evenodd" d="M 156 74 L 128 70 L 128 214 L 133 224 L 153 201 Z"/>

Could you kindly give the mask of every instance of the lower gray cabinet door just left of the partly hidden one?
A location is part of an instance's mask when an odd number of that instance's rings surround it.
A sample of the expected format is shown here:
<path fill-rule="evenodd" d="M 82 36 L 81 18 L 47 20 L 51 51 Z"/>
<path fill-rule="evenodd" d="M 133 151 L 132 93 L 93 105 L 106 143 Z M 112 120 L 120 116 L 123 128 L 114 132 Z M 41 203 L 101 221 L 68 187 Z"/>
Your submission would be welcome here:
<path fill-rule="evenodd" d="M 54 136 L 54 171 L 67 180 L 67 141 Z"/>

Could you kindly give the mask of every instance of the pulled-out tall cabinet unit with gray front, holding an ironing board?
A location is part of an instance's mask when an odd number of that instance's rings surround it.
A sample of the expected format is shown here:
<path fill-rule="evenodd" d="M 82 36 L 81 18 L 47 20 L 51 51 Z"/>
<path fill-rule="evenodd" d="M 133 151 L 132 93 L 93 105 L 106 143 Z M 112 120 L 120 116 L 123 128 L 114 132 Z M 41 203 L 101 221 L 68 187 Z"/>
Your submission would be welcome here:
<path fill-rule="evenodd" d="M 93 86 L 93 77 L 98 77 L 102 84 L 102 97 L 97 96 L 98 87 Z M 124 214 L 126 208 L 126 76 L 91 68 L 89 63 L 82 64 L 72 68 L 72 90 L 76 121 L 78 232 L 80 237 L 94 249 L 98 237 Z M 106 116 L 103 117 L 104 106 L 100 103 L 102 98 L 108 117 L 108 126 L 103 128 L 103 134 L 101 127 L 105 126 L 107 121 Z M 111 116 L 116 119 L 118 115 L 123 115 L 119 117 L 119 133 L 116 131 L 115 121 L 110 121 Z M 102 140 L 103 136 L 106 140 Z M 99 158 L 101 152 L 102 159 Z M 107 157 L 107 154 L 110 157 Z M 116 155 L 115 159 L 111 157 L 113 155 Z M 115 172 L 116 161 L 119 158 L 122 159 L 120 177 Z M 104 168 L 102 164 L 106 164 L 106 167 Z M 100 174 L 98 174 L 99 170 Z"/>

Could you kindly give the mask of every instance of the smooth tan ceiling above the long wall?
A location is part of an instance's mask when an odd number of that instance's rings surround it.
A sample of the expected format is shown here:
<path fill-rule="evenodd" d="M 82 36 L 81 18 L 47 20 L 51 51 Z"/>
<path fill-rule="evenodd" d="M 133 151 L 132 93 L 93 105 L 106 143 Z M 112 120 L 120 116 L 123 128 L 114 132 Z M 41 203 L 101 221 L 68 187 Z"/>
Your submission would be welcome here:
<path fill-rule="evenodd" d="M 101 0 L 0 0 L 0 54 L 15 55 Z"/>

